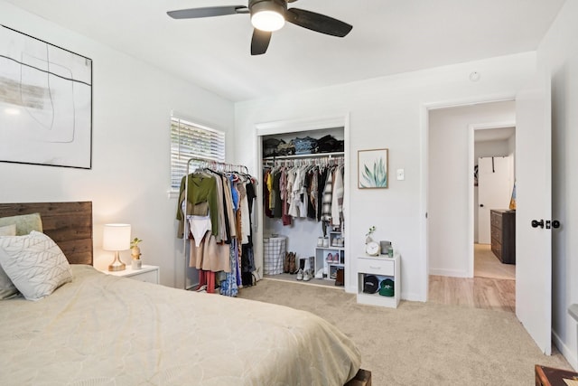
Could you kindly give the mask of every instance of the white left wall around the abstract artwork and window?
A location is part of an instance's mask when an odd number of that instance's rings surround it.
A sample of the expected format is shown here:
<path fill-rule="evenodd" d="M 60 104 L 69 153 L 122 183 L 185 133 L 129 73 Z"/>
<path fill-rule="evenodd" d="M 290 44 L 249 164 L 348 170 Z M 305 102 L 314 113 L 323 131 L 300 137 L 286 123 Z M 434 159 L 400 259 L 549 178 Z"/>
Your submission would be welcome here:
<path fill-rule="evenodd" d="M 176 200 L 167 195 L 171 109 L 198 123 L 230 130 L 233 104 L 4 1 L 0 24 L 93 61 L 92 169 L 0 163 L 0 202 L 92 201 L 97 268 L 106 268 L 113 258 L 101 250 L 102 225 L 126 221 L 144 240 L 144 264 L 161 266 L 162 284 L 182 287 Z M 232 155 L 232 131 L 227 141 Z M 129 261 L 130 251 L 122 252 L 121 258 Z"/>

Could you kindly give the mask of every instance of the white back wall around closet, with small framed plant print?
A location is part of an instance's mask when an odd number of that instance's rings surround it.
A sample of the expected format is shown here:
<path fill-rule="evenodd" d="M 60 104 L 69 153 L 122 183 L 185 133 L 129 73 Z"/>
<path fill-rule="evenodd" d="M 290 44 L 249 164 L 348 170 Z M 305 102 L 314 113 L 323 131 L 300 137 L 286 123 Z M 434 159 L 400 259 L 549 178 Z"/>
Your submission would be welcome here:
<path fill-rule="evenodd" d="M 256 125 L 304 118 L 348 116 L 350 141 L 349 236 L 346 254 L 363 254 L 364 234 L 377 227 L 376 240 L 392 240 L 402 258 L 402 297 L 425 300 L 425 187 L 427 166 L 427 110 L 432 105 L 464 100 L 513 98 L 535 71 L 535 54 L 446 66 L 426 71 L 314 89 L 299 94 L 236 104 L 238 162 L 260 170 L 256 161 Z M 478 71 L 481 80 L 471 82 Z M 386 190 L 357 188 L 357 152 L 389 149 L 389 173 L 405 169 L 405 181 L 390 179 Z M 346 230 L 348 231 L 348 230 Z M 355 269 L 355 265 L 352 266 Z M 356 287 L 355 275 L 346 288 Z"/>

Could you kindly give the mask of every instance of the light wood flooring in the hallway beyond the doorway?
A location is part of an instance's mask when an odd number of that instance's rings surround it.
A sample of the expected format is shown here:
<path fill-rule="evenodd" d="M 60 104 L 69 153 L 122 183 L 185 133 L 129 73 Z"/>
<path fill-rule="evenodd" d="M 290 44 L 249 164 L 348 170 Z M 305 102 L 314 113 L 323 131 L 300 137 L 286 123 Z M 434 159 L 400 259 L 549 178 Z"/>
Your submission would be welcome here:
<path fill-rule="evenodd" d="M 516 266 L 502 264 L 488 248 L 477 245 L 474 249 L 474 278 L 431 275 L 428 301 L 515 313 Z"/>

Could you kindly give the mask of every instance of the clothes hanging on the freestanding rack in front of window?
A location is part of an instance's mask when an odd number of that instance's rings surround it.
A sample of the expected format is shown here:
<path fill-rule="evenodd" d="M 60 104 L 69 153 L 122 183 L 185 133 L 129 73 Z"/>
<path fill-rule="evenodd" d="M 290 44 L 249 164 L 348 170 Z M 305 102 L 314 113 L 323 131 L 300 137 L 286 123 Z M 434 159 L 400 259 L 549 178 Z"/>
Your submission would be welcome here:
<path fill-rule="evenodd" d="M 187 230 L 190 266 L 207 272 L 200 275 L 208 283 L 207 292 L 219 287 L 222 295 L 234 297 L 239 286 L 252 284 L 255 185 L 256 179 L 249 174 L 208 168 L 182 177 L 178 235 L 182 237 Z M 211 273 L 215 272 L 224 276 L 219 275 L 222 279 L 216 279 L 213 286 Z"/>

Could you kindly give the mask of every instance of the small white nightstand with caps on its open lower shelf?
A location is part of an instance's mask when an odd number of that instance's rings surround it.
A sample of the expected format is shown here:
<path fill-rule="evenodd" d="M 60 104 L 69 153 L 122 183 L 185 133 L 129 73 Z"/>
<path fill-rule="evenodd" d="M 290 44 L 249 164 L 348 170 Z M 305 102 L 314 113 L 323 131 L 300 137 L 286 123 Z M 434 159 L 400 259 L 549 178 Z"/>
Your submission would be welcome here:
<path fill-rule="evenodd" d="M 401 291 L 401 263 L 399 255 L 393 258 L 361 256 L 358 258 L 358 303 L 371 306 L 386 306 L 397 308 L 399 305 Z M 384 297 L 375 294 L 366 294 L 363 292 L 363 283 L 366 275 L 375 275 L 379 283 L 386 278 L 394 281 L 394 296 Z"/>

